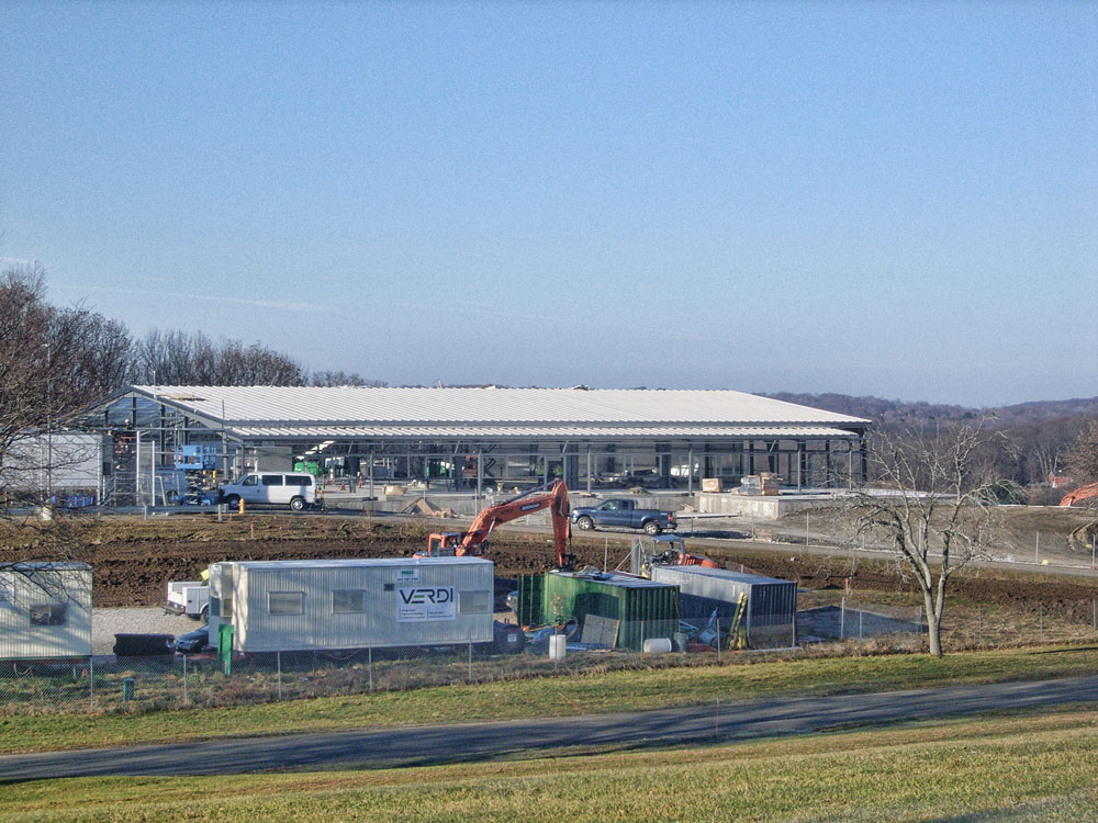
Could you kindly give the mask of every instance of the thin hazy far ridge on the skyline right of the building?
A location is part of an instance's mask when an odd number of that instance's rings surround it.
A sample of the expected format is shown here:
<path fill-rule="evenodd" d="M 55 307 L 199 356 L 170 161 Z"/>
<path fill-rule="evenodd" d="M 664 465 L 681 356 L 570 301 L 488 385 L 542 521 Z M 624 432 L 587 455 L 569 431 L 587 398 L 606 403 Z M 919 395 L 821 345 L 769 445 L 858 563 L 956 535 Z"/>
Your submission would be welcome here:
<path fill-rule="evenodd" d="M 937 403 L 886 401 L 881 397 L 853 397 L 849 394 L 806 394 L 775 392 L 764 394 L 787 403 L 822 408 L 841 415 L 867 417 L 881 426 L 904 426 L 930 420 L 959 420 L 988 415 L 1000 425 L 1013 426 L 1023 422 L 1040 422 L 1069 417 L 1098 417 L 1098 397 L 1069 401 L 1034 401 L 1013 406 L 976 408 L 950 406 Z"/>

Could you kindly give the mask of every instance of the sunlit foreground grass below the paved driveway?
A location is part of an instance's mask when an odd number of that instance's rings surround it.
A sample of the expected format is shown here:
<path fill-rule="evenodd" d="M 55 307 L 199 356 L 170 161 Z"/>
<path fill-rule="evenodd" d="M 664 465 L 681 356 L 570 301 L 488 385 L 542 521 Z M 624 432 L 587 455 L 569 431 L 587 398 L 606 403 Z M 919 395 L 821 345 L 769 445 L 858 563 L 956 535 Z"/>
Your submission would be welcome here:
<path fill-rule="evenodd" d="M 10 821 L 1076 821 L 1098 711 L 404 769 L 81 778 L 0 792 Z"/>

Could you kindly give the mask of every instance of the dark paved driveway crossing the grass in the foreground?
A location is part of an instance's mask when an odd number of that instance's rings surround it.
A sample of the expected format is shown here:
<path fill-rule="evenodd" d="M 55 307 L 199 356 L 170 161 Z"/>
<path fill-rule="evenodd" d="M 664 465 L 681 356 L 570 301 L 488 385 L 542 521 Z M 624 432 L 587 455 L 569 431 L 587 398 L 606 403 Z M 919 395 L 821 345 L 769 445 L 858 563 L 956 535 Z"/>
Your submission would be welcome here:
<path fill-rule="evenodd" d="M 360 729 L 178 745 L 0 757 L 0 780 L 96 775 L 244 774 L 268 769 L 410 766 L 513 752 L 628 747 L 873 726 L 988 710 L 1098 702 L 1098 677 L 797 697 L 627 714 Z"/>

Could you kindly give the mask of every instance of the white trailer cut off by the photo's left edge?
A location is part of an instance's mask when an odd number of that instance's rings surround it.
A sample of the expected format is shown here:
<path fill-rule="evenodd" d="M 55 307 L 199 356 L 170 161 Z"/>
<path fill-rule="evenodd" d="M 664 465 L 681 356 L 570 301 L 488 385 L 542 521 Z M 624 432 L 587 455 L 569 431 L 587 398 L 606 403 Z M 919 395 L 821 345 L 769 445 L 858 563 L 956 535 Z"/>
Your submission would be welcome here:
<path fill-rule="evenodd" d="M 91 655 L 91 566 L 0 565 L 0 659 Z"/>

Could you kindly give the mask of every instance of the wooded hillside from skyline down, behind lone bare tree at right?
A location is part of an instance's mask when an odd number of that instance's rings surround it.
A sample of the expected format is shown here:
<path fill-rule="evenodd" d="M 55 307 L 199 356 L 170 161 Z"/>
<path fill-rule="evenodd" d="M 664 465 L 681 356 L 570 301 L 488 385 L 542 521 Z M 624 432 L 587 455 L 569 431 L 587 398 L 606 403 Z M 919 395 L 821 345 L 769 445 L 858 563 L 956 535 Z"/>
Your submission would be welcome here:
<path fill-rule="evenodd" d="M 766 396 L 865 417 L 873 420 L 874 429 L 884 431 L 930 431 L 937 425 L 982 419 L 996 435 L 994 447 L 985 448 L 982 454 L 987 471 L 1037 489 L 1029 501 L 1054 503 L 1063 496 L 1064 488 L 1041 491 L 1050 475 L 1071 476 L 1072 485 L 1098 480 L 1098 463 L 1091 456 L 1098 453 L 1098 438 L 1091 435 L 1088 439 L 1098 418 L 1098 397 L 974 408 L 845 394 L 780 392 Z M 1088 444 L 1091 440 L 1095 446 Z"/>

